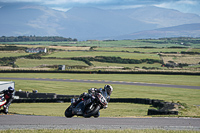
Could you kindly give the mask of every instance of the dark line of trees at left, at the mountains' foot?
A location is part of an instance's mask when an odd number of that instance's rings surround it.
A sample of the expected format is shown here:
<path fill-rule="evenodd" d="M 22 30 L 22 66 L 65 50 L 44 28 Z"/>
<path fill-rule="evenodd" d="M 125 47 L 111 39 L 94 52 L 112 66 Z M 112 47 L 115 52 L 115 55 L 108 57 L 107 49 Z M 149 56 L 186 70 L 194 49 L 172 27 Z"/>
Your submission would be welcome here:
<path fill-rule="evenodd" d="M 78 41 L 76 38 L 64 38 L 60 36 L 2 36 L 0 37 L 0 42 L 28 42 L 28 41 L 52 41 L 52 42 L 60 42 L 60 41 Z"/>

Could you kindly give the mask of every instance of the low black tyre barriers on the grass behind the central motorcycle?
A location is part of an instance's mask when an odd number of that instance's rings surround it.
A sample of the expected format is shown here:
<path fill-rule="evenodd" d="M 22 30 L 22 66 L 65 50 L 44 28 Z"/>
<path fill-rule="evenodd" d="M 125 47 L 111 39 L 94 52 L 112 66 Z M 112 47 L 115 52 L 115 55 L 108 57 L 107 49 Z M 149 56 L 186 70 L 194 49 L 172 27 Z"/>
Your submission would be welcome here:
<path fill-rule="evenodd" d="M 55 102 L 70 102 L 71 98 L 79 97 L 79 95 L 56 95 L 55 93 L 27 93 L 16 92 L 15 96 L 19 99 L 14 99 L 13 103 L 55 103 Z M 178 111 L 164 110 L 167 106 L 171 109 L 175 108 L 173 103 L 164 102 L 158 99 L 148 98 L 111 98 L 109 102 L 119 103 L 137 103 L 152 105 L 159 109 L 148 109 L 147 115 L 178 115 Z"/>

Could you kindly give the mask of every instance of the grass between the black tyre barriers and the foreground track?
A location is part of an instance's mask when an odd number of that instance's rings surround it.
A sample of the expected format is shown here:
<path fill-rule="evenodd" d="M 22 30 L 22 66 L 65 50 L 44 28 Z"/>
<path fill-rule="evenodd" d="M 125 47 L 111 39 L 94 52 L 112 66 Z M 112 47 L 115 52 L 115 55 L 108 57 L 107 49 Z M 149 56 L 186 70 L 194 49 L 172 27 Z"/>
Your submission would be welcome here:
<path fill-rule="evenodd" d="M 70 103 L 13 103 L 10 106 L 9 112 L 27 115 L 65 117 L 64 112 L 69 105 Z M 109 103 L 107 109 L 100 110 L 100 117 L 146 116 L 149 106 L 150 105 L 130 103 Z"/>

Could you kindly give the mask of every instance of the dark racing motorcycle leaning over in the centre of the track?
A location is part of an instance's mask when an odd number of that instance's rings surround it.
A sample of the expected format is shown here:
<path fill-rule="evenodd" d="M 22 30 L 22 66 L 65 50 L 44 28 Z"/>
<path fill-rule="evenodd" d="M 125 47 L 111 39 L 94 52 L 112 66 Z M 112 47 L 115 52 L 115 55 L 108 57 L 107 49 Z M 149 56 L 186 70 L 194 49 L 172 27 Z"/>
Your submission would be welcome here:
<path fill-rule="evenodd" d="M 65 110 L 65 116 L 71 118 L 74 115 L 90 118 L 94 116 L 98 118 L 99 110 L 108 104 L 107 100 L 101 93 L 97 93 L 95 96 L 88 96 L 81 98 L 81 101 L 77 105 L 73 105 L 73 101 L 77 100 L 72 98 L 71 105 Z"/>

